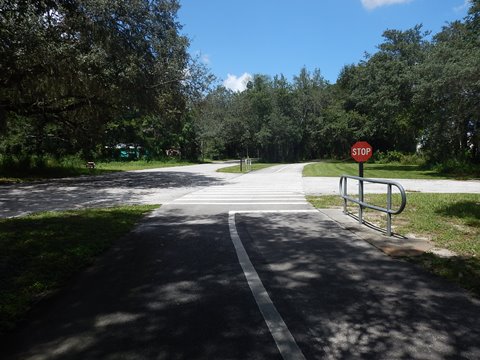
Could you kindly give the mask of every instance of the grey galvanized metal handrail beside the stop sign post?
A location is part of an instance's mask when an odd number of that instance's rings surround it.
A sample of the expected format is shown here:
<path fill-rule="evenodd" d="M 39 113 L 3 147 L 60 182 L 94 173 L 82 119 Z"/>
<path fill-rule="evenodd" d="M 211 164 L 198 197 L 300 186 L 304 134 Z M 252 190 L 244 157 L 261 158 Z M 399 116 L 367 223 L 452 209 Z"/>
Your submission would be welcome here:
<path fill-rule="evenodd" d="M 348 196 L 347 179 L 358 181 L 358 199 Z M 364 182 L 387 185 L 387 207 L 386 208 L 376 206 L 376 205 L 371 205 L 363 201 L 363 183 Z M 392 186 L 395 186 L 396 188 L 398 188 L 398 190 L 400 190 L 400 194 L 402 197 L 402 203 L 400 204 L 400 207 L 396 210 L 392 209 Z M 344 201 L 343 212 L 345 214 L 347 213 L 347 201 L 351 201 L 359 205 L 358 221 L 360 224 L 363 224 L 363 208 L 369 208 L 369 209 L 384 212 L 387 214 L 387 235 L 388 236 L 392 235 L 392 215 L 400 214 L 403 211 L 403 209 L 405 209 L 405 205 L 407 204 L 407 195 L 405 193 L 405 189 L 400 183 L 392 180 L 379 180 L 379 179 L 369 179 L 369 178 L 364 178 L 359 176 L 342 175 L 340 177 L 339 190 L 340 190 L 340 196 Z"/>

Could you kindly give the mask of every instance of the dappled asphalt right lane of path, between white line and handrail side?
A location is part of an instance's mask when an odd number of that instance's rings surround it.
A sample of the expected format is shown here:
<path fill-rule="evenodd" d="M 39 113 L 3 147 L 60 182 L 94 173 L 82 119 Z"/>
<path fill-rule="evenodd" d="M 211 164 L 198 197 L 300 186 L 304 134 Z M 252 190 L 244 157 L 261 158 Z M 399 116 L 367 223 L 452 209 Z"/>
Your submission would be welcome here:
<path fill-rule="evenodd" d="M 242 214 L 237 229 L 307 358 L 480 358 L 465 291 L 318 215 Z"/>

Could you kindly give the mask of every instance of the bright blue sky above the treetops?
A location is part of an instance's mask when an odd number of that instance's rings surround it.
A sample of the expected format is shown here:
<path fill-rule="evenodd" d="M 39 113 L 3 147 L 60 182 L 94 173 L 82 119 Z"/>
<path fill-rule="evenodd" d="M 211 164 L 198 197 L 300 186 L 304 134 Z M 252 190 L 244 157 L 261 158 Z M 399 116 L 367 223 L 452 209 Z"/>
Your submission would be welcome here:
<path fill-rule="evenodd" d="M 423 24 L 433 34 L 467 15 L 468 0 L 180 0 L 178 21 L 221 83 L 319 68 L 334 83 L 344 65 L 374 53 L 386 29 Z M 226 82 L 225 82 L 226 81 Z"/>

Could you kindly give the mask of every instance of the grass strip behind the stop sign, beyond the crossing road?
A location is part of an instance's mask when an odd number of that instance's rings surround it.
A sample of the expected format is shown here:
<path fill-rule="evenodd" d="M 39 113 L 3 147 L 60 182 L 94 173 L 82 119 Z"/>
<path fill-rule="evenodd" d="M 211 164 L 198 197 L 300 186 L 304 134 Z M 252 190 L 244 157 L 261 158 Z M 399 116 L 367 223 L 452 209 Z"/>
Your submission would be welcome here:
<path fill-rule="evenodd" d="M 306 165 L 303 176 L 358 176 L 358 163 L 323 161 Z M 474 178 L 474 176 L 453 174 L 441 174 L 434 170 L 425 170 L 420 165 L 402 164 L 373 164 L 364 163 L 364 176 L 368 178 L 387 179 L 451 179 L 451 178 Z"/>

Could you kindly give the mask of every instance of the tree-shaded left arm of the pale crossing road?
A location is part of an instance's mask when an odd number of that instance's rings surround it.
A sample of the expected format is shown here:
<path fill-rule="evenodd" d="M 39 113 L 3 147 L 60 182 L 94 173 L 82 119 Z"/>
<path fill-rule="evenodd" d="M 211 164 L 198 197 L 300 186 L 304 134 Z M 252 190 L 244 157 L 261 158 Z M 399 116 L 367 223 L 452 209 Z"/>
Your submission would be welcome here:
<path fill-rule="evenodd" d="M 122 172 L 0 187 L 0 217 L 56 209 L 161 203 L 170 192 L 222 184 L 190 172 Z M 159 191 L 161 190 L 161 191 Z M 154 196 L 154 197 L 152 197 Z"/>

